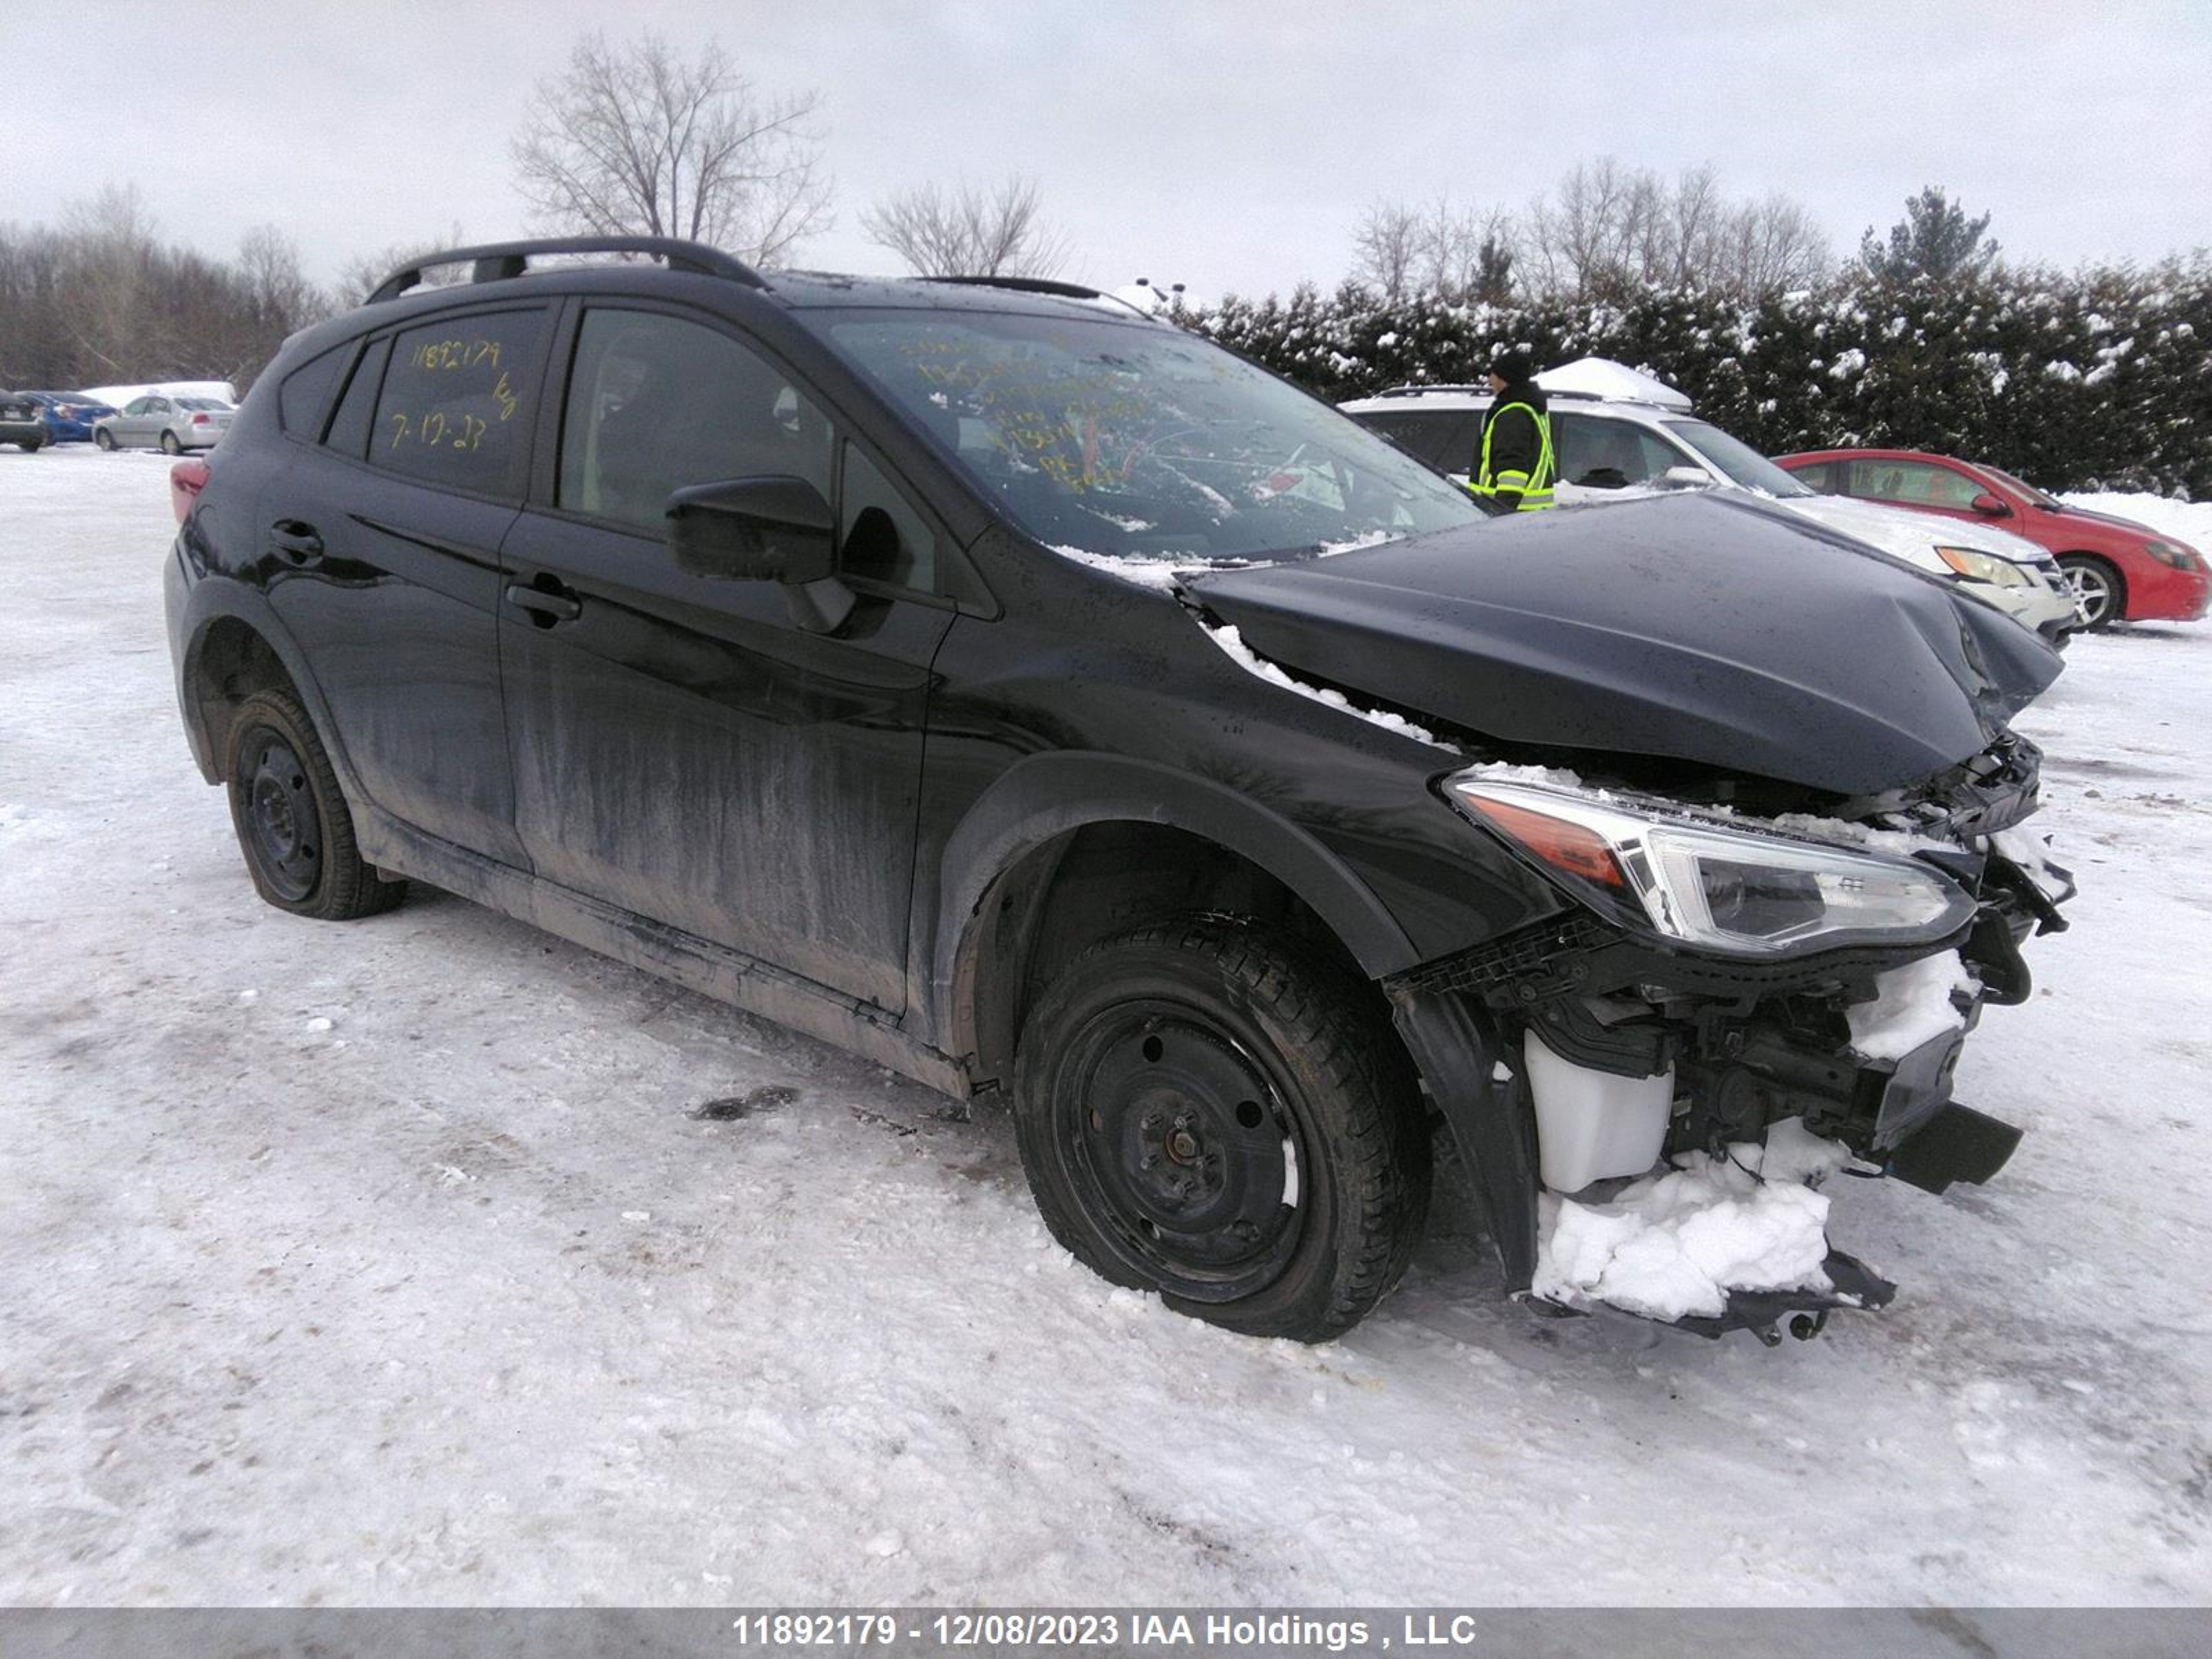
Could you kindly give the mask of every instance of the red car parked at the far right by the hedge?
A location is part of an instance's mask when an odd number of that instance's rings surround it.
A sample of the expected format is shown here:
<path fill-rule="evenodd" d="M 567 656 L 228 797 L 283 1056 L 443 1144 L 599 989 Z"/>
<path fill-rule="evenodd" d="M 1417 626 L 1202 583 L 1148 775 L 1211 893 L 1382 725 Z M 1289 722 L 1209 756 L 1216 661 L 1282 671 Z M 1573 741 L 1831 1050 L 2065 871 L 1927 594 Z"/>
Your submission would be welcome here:
<path fill-rule="evenodd" d="M 2066 507 L 1995 467 L 1920 449 L 1807 449 L 1774 460 L 1823 495 L 1858 495 L 2024 535 L 2057 555 L 2090 628 L 2194 622 L 2212 602 L 2212 568 L 2197 549 L 2126 518 Z"/>

